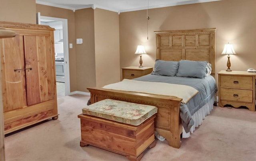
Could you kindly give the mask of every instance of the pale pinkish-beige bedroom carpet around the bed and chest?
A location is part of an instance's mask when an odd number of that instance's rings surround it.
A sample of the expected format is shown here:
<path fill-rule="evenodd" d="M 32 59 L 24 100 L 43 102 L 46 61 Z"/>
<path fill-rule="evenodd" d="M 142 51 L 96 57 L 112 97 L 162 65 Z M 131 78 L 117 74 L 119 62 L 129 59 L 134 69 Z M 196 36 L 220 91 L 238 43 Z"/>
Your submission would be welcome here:
<path fill-rule="evenodd" d="M 89 96 L 58 98 L 57 120 L 48 120 L 5 137 L 6 161 L 126 161 L 126 157 L 93 146 L 80 147 L 80 119 Z M 256 160 L 256 112 L 214 107 L 180 149 L 157 141 L 142 161 Z"/>

